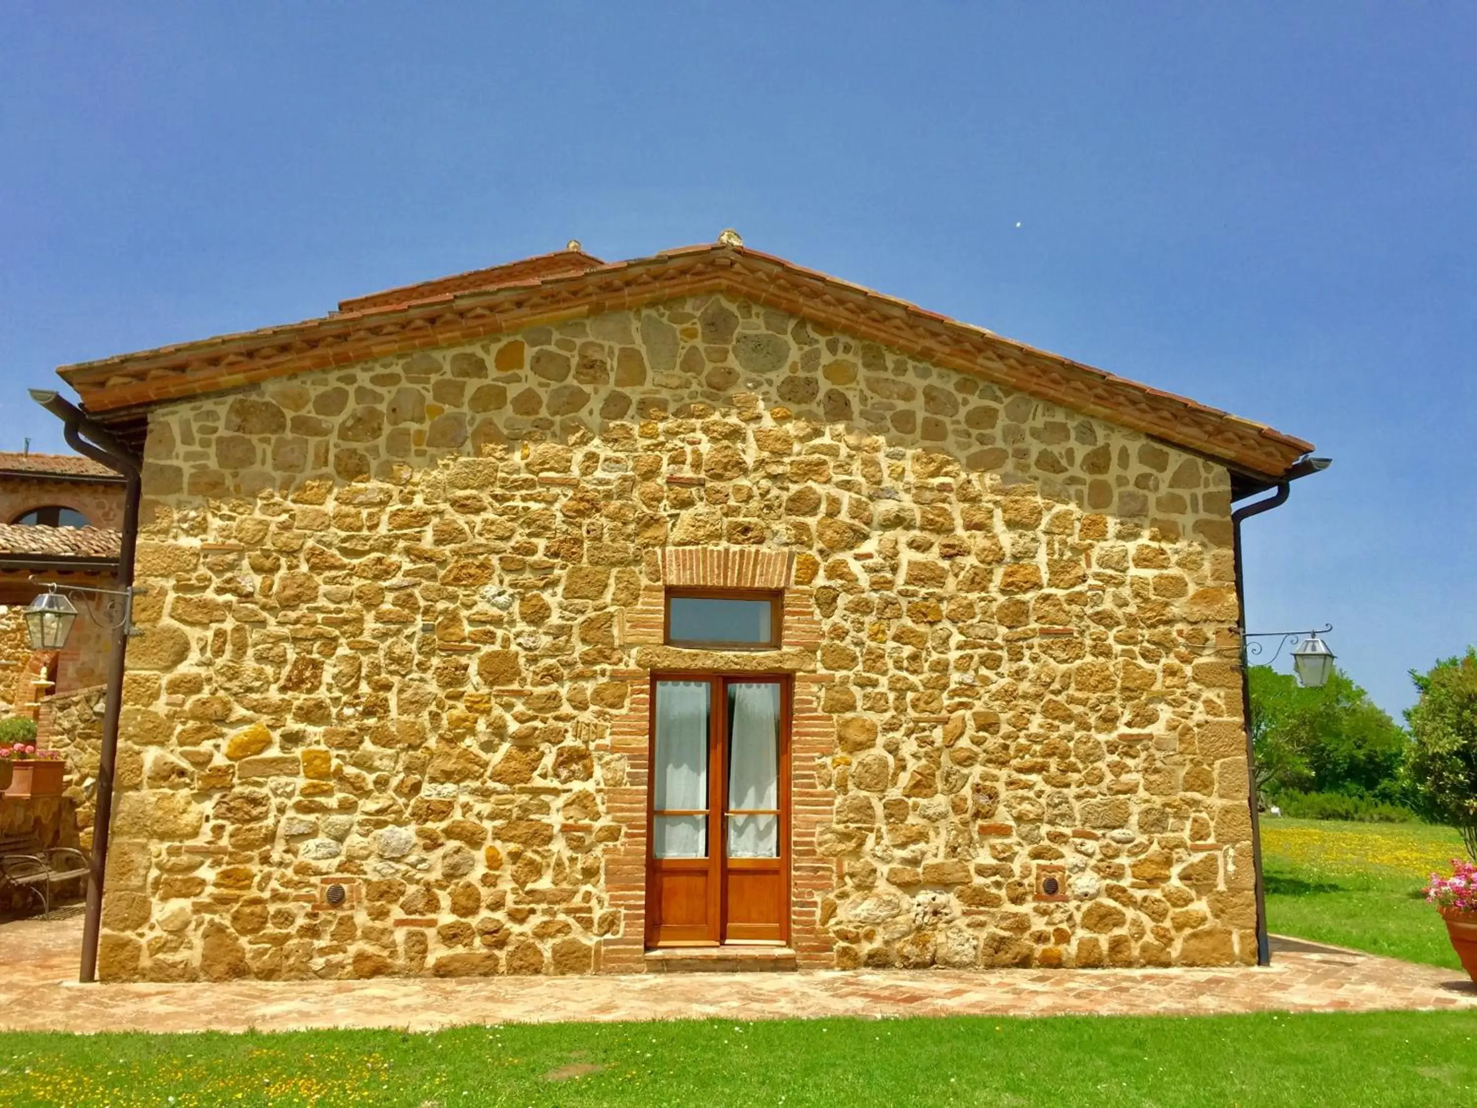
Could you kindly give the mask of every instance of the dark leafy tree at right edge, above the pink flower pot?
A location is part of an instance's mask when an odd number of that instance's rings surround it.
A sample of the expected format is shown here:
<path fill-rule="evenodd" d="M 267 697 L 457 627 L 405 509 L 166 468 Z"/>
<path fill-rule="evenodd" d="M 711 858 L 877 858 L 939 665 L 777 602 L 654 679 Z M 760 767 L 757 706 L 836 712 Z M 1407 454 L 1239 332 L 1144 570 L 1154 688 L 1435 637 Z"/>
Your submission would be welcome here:
<path fill-rule="evenodd" d="M 1477 650 L 1411 671 L 1421 699 L 1406 709 L 1415 740 L 1408 773 L 1427 811 L 1462 835 L 1477 860 Z"/>

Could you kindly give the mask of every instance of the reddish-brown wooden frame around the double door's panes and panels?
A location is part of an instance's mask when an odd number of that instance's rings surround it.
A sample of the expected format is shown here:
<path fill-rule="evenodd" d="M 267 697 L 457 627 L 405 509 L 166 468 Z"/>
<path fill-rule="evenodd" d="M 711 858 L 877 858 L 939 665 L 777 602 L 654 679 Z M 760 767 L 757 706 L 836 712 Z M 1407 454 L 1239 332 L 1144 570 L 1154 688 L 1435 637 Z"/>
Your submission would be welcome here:
<path fill-rule="evenodd" d="M 672 869 L 702 869 L 702 866 L 682 863 L 703 863 L 709 873 L 709 889 L 707 889 L 707 914 L 709 914 L 709 935 L 706 940 L 666 940 L 665 943 L 657 943 L 656 940 L 656 912 L 651 906 L 651 889 L 654 888 L 653 875 L 656 872 L 657 857 L 656 857 L 656 721 L 657 721 L 657 700 L 656 700 L 656 685 L 659 681 L 700 681 L 706 680 L 710 683 L 712 693 L 709 693 L 709 722 L 707 722 L 707 857 L 706 858 L 671 858 L 660 860 L 663 866 L 671 866 Z M 740 863 L 737 869 L 744 869 L 741 863 L 755 861 L 764 863 L 767 858 L 733 858 L 728 855 L 728 835 L 725 826 L 727 813 L 727 792 L 728 792 L 728 699 L 722 696 L 722 691 L 730 683 L 750 683 L 750 684 L 777 684 L 780 687 L 780 734 L 777 752 L 777 768 L 778 768 L 778 807 L 780 807 L 780 827 L 778 827 L 778 844 L 780 844 L 780 882 L 784 892 L 784 910 L 780 914 L 780 938 L 775 945 L 786 945 L 790 941 L 790 917 L 795 912 L 793 901 L 793 866 L 790 861 L 790 835 L 792 835 L 792 802 L 790 802 L 790 749 L 792 749 L 792 717 L 795 714 L 795 675 L 784 672 L 764 672 L 764 674 L 749 674 L 741 671 L 728 669 L 662 669 L 651 671 L 648 678 L 648 696 L 647 703 L 651 705 L 650 719 L 647 727 L 647 845 L 645 845 L 645 935 L 644 943 L 647 950 L 654 950 L 659 947 L 716 947 L 725 940 L 724 935 L 724 920 L 727 919 L 727 882 L 724 880 L 724 867 Z M 715 753 L 718 755 L 715 758 Z M 721 770 L 721 773 L 718 773 Z M 674 864 L 675 863 L 675 864 Z M 758 866 L 756 866 L 758 869 Z M 744 943 L 753 943 L 753 940 L 743 940 Z"/>

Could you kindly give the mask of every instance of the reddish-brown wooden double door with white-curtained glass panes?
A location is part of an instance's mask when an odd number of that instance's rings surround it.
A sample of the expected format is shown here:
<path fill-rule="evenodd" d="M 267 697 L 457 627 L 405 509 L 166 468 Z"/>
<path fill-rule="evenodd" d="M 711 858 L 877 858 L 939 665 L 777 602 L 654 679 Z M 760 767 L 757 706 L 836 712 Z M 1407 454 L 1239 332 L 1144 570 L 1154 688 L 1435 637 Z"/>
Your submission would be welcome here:
<path fill-rule="evenodd" d="M 789 677 L 653 677 L 648 947 L 789 941 Z"/>

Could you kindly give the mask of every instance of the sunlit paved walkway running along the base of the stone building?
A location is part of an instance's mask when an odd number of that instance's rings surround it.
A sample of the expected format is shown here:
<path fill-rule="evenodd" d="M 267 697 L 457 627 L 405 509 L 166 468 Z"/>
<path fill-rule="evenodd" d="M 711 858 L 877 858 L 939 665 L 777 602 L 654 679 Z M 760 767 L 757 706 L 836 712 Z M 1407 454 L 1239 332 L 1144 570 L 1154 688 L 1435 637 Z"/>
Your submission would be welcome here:
<path fill-rule="evenodd" d="M 310 1027 L 789 1016 L 1219 1015 L 1470 1009 L 1455 971 L 1278 941 L 1267 969 L 645 974 L 598 978 L 78 985 L 81 914 L 0 925 L 0 1028 Z"/>

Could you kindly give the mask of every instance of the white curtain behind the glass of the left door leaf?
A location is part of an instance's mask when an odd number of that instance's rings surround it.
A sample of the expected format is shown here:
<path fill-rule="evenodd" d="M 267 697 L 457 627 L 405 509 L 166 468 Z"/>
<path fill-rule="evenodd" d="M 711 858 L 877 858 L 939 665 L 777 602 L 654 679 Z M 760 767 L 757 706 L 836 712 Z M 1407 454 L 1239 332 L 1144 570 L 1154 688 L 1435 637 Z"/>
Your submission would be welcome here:
<path fill-rule="evenodd" d="M 707 681 L 657 681 L 654 808 L 707 810 Z M 706 815 L 657 815 L 657 858 L 706 858 Z"/>

